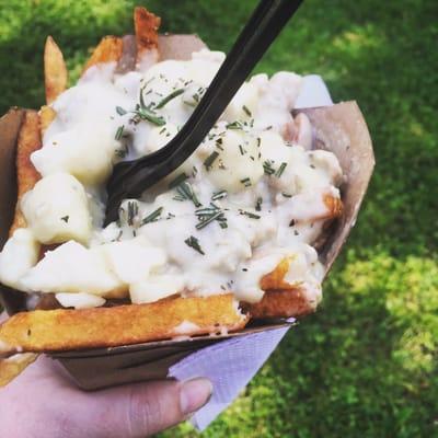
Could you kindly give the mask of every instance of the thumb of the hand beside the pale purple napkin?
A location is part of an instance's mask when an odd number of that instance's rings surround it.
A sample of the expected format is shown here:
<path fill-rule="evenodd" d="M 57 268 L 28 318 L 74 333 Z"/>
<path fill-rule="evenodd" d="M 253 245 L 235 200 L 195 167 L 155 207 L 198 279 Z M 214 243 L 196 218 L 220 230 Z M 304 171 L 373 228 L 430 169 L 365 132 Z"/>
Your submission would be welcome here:
<path fill-rule="evenodd" d="M 204 406 L 209 380 L 132 383 L 97 393 L 82 393 L 78 420 L 93 438 L 145 437 L 183 422 Z"/>

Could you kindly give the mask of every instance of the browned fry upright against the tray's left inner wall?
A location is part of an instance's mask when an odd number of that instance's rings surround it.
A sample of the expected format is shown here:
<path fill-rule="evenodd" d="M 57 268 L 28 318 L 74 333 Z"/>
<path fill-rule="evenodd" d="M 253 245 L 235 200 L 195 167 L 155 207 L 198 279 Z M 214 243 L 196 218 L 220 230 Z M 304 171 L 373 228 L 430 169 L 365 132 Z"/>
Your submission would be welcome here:
<path fill-rule="evenodd" d="M 12 235 L 18 228 L 26 227 L 26 220 L 20 209 L 20 201 L 23 195 L 32 189 L 41 178 L 31 161 L 32 152 L 42 147 L 39 136 L 39 117 L 36 111 L 27 110 L 23 124 L 20 128 L 19 140 L 16 145 L 16 185 L 18 199 L 15 206 L 15 216 L 9 231 Z"/>

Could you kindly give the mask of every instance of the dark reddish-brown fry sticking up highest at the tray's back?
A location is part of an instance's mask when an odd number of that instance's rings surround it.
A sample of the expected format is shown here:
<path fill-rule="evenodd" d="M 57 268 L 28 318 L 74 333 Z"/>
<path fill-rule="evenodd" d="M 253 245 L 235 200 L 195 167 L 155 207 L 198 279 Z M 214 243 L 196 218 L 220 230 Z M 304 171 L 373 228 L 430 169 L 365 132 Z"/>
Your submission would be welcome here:
<path fill-rule="evenodd" d="M 161 19 L 146 8 L 137 7 L 134 10 L 134 25 L 137 43 L 137 66 L 140 70 L 158 61 L 158 30 Z"/>

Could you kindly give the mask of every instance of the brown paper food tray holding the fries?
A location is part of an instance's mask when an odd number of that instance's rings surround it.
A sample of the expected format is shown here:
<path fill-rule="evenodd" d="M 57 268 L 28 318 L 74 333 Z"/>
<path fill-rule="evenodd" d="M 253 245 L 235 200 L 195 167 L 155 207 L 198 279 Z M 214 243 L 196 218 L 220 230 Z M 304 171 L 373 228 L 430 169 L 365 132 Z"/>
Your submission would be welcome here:
<path fill-rule="evenodd" d="M 187 59 L 192 51 L 201 47 L 204 43 L 193 35 L 160 37 L 163 59 Z M 300 112 L 306 113 L 312 123 L 316 147 L 333 151 L 346 175 L 342 187 L 345 214 L 334 226 L 320 254 L 328 270 L 356 222 L 374 165 L 372 145 L 365 119 L 355 102 Z M 0 119 L 0 247 L 8 238 L 15 207 L 15 147 L 22 116 L 22 110 L 12 108 Z M 25 309 L 25 293 L 1 286 L 0 298 L 9 314 Z M 278 320 L 257 321 L 239 333 L 228 335 L 73 350 L 54 354 L 53 357 L 62 364 L 80 388 L 94 390 L 139 380 L 164 379 L 172 365 L 199 348 L 230 337 L 288 324 L 287 321 Z"/>

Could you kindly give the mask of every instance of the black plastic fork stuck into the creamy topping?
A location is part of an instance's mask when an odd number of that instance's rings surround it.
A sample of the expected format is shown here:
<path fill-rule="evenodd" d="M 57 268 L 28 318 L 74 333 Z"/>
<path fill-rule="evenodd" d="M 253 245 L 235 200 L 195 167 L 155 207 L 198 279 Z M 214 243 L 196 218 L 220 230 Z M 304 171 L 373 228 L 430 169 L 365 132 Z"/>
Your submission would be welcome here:
<path fill-rule="evenodd" d="M 192 155 L 302 1 L 262 0 L 177 135 L 158 151 L 114 166 L 106 186 L 105 224 L 117 219 L 123 199 L 139 197 Z"/>

